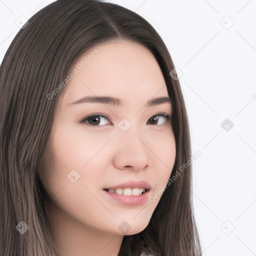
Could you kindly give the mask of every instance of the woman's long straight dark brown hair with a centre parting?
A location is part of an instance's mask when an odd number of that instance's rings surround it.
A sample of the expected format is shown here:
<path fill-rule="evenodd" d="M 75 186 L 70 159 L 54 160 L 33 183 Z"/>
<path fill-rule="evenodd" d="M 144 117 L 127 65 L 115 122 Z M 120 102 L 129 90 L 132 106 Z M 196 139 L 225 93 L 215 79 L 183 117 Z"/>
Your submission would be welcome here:
<path fill-rule="evenodd" d="M 57 0 L 33 15 L 11 42 L 0 66 L 0 255 L 55 256 L 40 182 L 58 98 L 47 95 L 82 53 L 127 39 L 155 56 L 172 104 L 176 143 L 172 174 L 191 157 L 185 104 L 169 52 L 155 29 L 122 6 L 99 0 Z M 20 221 L 29 229 L 16 230 Z M 141 242 L 142 241 L 142 242 Z M 191 202 L 190 165 L 164 191 L 147 227 L 127 235 L 119 256 L 137 256 L 143 244 L 156 255 L 201 254 Z"/>

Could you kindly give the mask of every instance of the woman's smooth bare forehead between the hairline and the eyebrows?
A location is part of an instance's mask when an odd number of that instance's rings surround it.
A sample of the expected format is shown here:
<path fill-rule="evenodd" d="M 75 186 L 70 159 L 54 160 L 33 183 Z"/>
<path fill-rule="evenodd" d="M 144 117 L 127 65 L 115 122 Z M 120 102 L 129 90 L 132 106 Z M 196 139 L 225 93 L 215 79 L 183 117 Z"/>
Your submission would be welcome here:
<path fill-rule="evenodd" d="M 85 52 L 72 66 L 63 103 L 82 96 L 111 95 L 125 101 L 168 96 L 153 54 L 133 41 L 110 41 Z"/>

